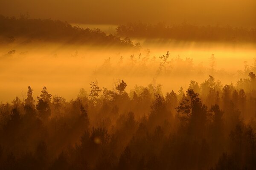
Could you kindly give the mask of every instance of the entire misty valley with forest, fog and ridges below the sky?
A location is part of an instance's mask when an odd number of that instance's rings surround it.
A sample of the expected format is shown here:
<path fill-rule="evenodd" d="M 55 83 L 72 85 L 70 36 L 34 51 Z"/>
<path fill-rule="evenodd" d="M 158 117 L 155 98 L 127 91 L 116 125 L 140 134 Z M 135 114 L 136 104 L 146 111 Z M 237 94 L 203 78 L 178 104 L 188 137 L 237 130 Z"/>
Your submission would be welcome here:
<path fill-rule="evenodd" d="M 0 102 L 3 170 L 255 170 L 256 28 L 0 15 Z"/>

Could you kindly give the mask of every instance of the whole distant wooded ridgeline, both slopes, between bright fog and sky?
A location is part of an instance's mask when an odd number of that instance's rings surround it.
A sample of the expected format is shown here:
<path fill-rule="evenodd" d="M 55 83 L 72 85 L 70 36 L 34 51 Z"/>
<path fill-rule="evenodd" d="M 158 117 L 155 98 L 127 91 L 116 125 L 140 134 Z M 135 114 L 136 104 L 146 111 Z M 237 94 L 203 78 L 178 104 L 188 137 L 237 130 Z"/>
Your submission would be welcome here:
<path fill-rule="evenodd" d="M 120 38 L 121 37 L 121 38 Z M 231 26 L 195 26 L 188 23 L 168 26 L 146 23 L 127 23 L 116 28 L 116 34 L 106 34 L 100 29 L 71 26 L 67 22 L 51 19 L 29 19 L 0 15 L 0 42 L 10 43 L 18 39 L 25 42 L 40 40 L 68 44 L 133 46 L 130 38 L 165 39 L 195 42 L 255 43 L 256 28 Z"/>

